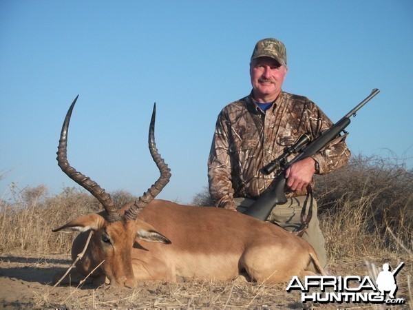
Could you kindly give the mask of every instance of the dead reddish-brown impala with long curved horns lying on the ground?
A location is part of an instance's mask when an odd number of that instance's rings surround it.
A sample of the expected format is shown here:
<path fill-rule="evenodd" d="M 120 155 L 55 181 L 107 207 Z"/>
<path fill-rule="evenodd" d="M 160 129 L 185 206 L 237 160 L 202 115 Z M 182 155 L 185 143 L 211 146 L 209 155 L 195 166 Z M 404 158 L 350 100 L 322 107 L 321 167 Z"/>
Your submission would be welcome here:
<path fill-rule="evenodd" d="M 135 287 L 139 280 L 233 280 L 241 273 L 257 282 L 286 282 L 322 269 L 313 248 L 298 236 L 244 214 L 215 207 L 178 205 L 154 198 L 171 177 L 154 138 L 155 106 L 149 150 L 160 177 L 135 203 L 121 208 L 96 182 L 67 161 L 67 132 L 76 99 L 63 123 L 57 152 L 59 167 L 87 189 L 104 211 L 72 220 L 53 231 L 80 231 L 72 258 L 85 247 L 76 270 L 107 278 L 111 285 Z M 190 182 L 190 180 L 188 180 Z"/>

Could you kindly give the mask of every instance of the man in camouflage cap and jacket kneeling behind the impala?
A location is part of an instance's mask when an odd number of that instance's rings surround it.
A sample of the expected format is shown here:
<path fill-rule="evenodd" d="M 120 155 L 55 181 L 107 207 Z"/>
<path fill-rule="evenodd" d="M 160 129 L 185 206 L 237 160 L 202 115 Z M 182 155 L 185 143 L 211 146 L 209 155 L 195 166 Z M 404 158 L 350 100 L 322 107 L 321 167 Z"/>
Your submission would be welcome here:
<path fill-rule="evenodd" d="M 282 84 L 288 72 L 286 48 L 276 39 L 255 45 L 250 63 L 251 94 L 230 103 L 220 112 L 208 159 L 209 192 L 217 207 L 244 211 L 266 190 L 275 173 L 260 169 L 309 132 L 313 140 L 332 125 L 330 119 L 304 96 L 288 94 Z M 348 162 L 350 151 L 343 138 L 321 152 L 286 169 L 288 203 L 277 205 L 268 221 L 289 231 L 301 226 L 300 214 L 306 187 L 314 174 L 326 174 Z M 317 205 L 303 238 L 313 246 L 324 267 L 326 250 L 319 228 Z"/>

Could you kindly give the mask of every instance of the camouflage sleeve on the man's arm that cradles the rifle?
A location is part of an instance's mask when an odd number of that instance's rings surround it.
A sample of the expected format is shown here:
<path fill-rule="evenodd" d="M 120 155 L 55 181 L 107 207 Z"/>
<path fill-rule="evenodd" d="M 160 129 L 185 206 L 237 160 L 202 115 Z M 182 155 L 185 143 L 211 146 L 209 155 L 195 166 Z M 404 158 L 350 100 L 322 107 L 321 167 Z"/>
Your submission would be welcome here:
<path fill-rule="evenodd" d="M 313 138 L 317 138 L 322 132 L 328 130 L 333 123 L 330 118 L 322 112 L 314 103 L 310 116 L 310 132 L 313 133 Z M 328 174 L 334 169 L 337 169 L 348 163 L 350 159 L 350 149 L 348 149 L 346 136 L 341 136 L 333 140 L 324 149 L 311 156 L 319 164 L 319 172 L 317 174 Z"/>

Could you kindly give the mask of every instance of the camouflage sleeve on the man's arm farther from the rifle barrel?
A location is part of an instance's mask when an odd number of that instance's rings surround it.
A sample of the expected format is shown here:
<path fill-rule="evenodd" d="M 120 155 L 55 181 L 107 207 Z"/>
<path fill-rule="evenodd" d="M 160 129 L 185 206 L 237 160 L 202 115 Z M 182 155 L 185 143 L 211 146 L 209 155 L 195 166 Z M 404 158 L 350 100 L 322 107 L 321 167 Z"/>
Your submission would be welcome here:
<path fill-rule="evenodd" d="M 217 207 L 235 209 L 229 156 L 229 129 L 224 112 L 218 116 L 208 158 L 209 193 Z"/>

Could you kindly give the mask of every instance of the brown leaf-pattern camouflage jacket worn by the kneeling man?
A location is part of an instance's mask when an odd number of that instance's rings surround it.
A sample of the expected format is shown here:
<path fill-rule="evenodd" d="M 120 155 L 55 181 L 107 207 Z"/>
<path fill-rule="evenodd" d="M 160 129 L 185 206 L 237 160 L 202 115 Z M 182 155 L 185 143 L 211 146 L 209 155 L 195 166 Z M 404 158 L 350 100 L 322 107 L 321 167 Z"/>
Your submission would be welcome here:
<path fill-rule="evenodd" d="M 258 198 L 270 187 L 275 173 L 260 172 L 285 147 L 310 132 L 313 140 L 332 125 L 315 103 L 304 96 L 281 92 L 265 113 L 249 96 L 230 103 L 220 112 L 208 159 L 209 192 L 218 207 L 231 209 L 233 198 Z M 348 162 L 350 150 L 344 138 L 333 141 L 312 157 L 318 174 Z M 290 196 L 305 195 L 297 191 Z"/>

